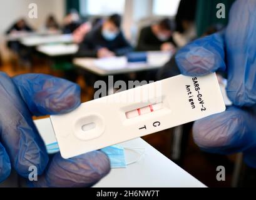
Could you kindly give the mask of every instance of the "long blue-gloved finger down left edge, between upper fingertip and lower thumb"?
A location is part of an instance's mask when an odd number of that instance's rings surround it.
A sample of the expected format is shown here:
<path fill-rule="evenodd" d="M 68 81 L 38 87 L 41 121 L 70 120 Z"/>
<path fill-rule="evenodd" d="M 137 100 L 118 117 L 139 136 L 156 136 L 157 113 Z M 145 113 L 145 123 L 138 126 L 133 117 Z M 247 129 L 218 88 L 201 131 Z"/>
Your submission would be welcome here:
<path fill-rule="evenodd" d="M 0 73 L 0 94 L 0 140 L 11 166 L 25 178 L 30 166 L 36 166 L 42 174 L 48 163 L 43 140 L 19 91 L 4 73 Z"/>

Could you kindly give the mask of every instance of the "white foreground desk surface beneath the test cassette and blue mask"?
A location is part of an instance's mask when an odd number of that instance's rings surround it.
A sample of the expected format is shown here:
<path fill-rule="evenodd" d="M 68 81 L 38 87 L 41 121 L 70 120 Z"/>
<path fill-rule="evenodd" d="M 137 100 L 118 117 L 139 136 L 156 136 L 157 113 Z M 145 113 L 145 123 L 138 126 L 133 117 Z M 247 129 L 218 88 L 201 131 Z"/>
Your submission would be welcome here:
<path fill-rule="evenodd" d="M 49 118 L 35 121 L 45 143 L 54 141 Z M 94 187 L 206 187 L 182 168 L 173 163 L 141 138 L 120 144 L 126 148 L 145 148 L 140 161 L 126 168 L 111 169 L 110 174 Z M 126 161 L 133 161 L 138 154 L 126 150 Z"/>

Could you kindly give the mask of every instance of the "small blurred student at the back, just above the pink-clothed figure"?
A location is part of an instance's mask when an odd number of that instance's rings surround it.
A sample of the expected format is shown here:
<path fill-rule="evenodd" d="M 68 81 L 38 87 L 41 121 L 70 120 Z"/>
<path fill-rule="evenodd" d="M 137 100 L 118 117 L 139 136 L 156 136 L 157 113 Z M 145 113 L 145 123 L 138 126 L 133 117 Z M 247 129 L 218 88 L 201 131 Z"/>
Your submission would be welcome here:
<path fill-rule="evenodd" d="M 69 34 L 74 32 L 81 25 L 80 16 L 78 11 L 71 9 L 68 14 L 64 17 L 63 33 Z"/>

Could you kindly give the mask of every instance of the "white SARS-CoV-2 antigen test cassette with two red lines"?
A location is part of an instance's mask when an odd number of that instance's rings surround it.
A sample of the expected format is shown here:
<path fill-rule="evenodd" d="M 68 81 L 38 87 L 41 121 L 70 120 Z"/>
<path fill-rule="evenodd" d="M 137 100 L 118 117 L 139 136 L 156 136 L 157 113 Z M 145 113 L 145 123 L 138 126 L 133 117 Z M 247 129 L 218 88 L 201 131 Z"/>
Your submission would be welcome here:
<path fill-rule="evenodd" d="M 61 156 L 71 158 L 222 111 L 215 74 L 178 75 L 88 101 L 51 123 Z"/>

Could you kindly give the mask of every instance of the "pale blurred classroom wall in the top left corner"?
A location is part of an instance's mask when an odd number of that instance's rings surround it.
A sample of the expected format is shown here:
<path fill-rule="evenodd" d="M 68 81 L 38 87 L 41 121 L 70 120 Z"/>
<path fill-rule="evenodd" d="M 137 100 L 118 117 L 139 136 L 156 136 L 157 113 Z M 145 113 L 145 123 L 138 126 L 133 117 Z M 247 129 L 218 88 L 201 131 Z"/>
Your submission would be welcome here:
<path fill-rule="evenodd" d="M 28 5 L 35 3 L 38 6 L 38 19 L 29 19 Z M 8 58 L 8 49 L 4 45 L 4 32 L 19 17 L 25 17 L 28 23 L 38 29 L 43 26 L 46 17 L 54 14 L 61 22 L 65 13 L 64 0 L 7 0 L 0 3 L 0 51 L 4 59 Z"/>

